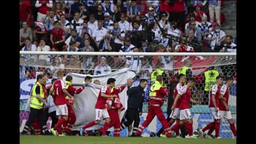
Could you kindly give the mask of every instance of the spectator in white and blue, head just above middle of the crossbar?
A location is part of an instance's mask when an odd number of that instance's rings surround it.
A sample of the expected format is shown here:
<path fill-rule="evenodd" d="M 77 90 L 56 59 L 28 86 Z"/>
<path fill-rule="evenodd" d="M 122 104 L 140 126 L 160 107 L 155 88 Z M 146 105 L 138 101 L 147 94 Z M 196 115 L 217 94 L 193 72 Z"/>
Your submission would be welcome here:
<path fill-rule="evenodd" d="M 139 52 L 139 49 L 137 47 L 133 48 L 133 52 Z M 143 55 L 127 55 L 126 56 L 126 68 L 129 68 L 130 70 L 136 71 L 139 67 L 141 67 L 141 59 L 143 58 Z"/>

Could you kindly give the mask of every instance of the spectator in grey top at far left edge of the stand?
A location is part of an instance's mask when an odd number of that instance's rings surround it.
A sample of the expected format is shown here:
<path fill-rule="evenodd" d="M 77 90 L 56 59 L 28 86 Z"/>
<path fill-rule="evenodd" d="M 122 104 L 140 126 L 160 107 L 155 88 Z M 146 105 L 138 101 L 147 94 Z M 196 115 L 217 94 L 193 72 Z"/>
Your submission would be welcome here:
<path fill-rule="evenodd" d="M 29 37 L 32 39 L 32 30 L 28 27 L 28 22 L 24 21 L 22 22 L 22 28 L 20 29 L 20 46 L 24 46 L 25 39 Z"/>

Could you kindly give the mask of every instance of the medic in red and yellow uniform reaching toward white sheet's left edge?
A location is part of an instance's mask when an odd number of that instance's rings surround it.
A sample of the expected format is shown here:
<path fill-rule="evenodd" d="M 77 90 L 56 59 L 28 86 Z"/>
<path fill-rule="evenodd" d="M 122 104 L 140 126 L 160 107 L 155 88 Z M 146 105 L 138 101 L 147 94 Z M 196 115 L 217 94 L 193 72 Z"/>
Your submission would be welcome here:
<path fill-rule="evenodd" d="M 89 79 L 88 81 L 90 83 L 92 82 L 92 77 L 86 76 L 85 81 L 87 80 L 86 78 Z M 84 90 L 84 86 L 86 86 L 88 84 L 88 82 L 85 83 L 84 85 L 82 85 L 82 87 L 80 87 L 79 89 L 76 89 L 75 87 L 73 87 L 72 80 L 73 80 L 73 77 L 70 75 L 67 75 L 67 77 L 66 77 L 67 87 L 66 88 L 67 88 L 68 93 L 70 93 L 74 97 L 75 94 L 79 94 Z M 68 121 L 63 124 L 63 128 L 64 128 L 63 133 L 65 135 L 70 135 L 71 129 L 76 122 L 76 114 L 72 108 L 72 105 L 74 104 L 74 102 L 72 100 L 70 100 L 68 98 L 68 96 L 66 97 L 66 104 L 68 107 Z"/>

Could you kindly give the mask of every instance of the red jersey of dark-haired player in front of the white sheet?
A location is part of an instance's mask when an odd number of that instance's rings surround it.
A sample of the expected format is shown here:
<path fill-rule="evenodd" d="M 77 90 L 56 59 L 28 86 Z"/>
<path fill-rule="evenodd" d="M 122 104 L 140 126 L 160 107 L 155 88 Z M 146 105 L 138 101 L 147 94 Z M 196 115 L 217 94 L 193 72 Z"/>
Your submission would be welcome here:
<path fill-rule="evenodd" d="M 105 109 L 106 108 L 106 101 L 108 98 L 101 97 L 101 93 L 105 93 L 110 95 L 110 89 L 107 85 L 102 86 L 100 93 L 98 95 L 97 102 L 95 104 L 95 109 Z"/>

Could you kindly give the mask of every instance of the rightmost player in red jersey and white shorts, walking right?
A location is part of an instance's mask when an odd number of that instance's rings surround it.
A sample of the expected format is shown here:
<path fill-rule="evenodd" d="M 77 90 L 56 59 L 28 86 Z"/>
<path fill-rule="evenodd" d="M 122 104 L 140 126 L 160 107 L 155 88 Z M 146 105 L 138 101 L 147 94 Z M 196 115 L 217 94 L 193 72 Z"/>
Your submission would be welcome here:
<path fill-rule="evenodd" d="M 230 125 L 230 129 L 236 138 L 236 127 L 235 127 L 234 119 L 232 118 L 229 107 L 228 107 L 228 99 L 229 99 L 228 88 L 229 86 L 233 85 L 233 82 L 234 82 L 234 79 L 232 77 L 227 77 L 226 84 L 221 87 L 219 108 L 220 108 L 220 117 L 225 121 L 228 121 Z"/>

